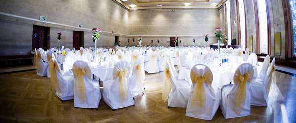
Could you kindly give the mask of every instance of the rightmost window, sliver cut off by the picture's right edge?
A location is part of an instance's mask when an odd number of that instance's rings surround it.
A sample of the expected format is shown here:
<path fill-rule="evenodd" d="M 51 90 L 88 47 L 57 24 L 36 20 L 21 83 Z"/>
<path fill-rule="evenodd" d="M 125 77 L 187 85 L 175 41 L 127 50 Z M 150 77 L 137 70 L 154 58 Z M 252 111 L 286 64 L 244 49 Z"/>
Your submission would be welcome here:
<path fill-rule="evenodd" d="M 294 32 L 294 55 L 296 55 L 296 0 L 290 0 L 290 6 Z"/>

